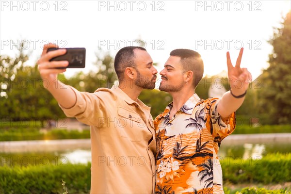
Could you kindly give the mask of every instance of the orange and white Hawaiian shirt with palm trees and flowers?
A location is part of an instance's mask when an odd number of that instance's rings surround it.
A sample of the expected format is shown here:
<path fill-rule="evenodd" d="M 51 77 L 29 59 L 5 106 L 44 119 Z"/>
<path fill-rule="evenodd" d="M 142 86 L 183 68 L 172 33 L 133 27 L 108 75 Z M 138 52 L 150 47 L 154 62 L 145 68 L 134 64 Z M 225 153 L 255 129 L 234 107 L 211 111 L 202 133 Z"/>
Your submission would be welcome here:
<path fill-rule="evenodd" d="M 156 117 L 156 194 L 224 193 L 217 153 L 236 123 L 235 113 L 226 120 L 220 117 L 218 102 L 194 93 L 173 118 L 173 103 Z"/>

